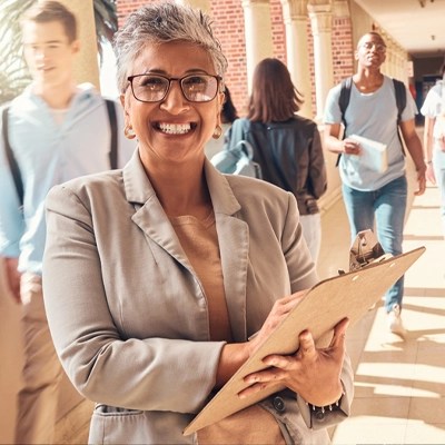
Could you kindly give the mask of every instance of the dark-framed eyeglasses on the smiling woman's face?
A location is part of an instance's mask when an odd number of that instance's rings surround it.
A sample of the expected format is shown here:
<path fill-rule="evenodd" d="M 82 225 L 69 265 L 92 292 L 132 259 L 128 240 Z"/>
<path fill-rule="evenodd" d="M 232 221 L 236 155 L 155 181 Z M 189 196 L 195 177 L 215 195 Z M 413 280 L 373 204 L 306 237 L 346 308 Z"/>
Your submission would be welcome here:
<path fill-rule="evenodd" d="M 209 102 L 215 99 L 221 80 L 219 76 L 211 75 L 189 75 L 181 78 L 136 75 L 127 79 L 131 85 L 132 96 L 141 102 L 164 100 L 174 80 L 179 82 L 184 97 L 190 102 Z"/>

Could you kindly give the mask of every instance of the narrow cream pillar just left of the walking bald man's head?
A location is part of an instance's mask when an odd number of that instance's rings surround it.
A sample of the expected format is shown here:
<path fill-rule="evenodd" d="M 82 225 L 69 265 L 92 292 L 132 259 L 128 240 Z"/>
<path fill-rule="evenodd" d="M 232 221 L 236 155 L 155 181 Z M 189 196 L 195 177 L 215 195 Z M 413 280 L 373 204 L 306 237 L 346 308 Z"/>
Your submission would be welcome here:
<path fill-rule="evenodd" d="M 310 0 L 307 6 L 314 36 L 314 68 L 317 115 L 322 121 L 326 96 L 334 86 L 332 49 L 332 6 L 326 0 Z"/>

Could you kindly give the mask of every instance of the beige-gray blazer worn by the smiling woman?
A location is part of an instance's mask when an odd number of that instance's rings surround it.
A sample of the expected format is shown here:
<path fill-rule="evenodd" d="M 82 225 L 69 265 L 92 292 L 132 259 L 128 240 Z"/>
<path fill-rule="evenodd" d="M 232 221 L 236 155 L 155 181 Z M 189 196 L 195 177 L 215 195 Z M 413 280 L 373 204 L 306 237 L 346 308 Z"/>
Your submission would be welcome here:
<path fill-rule="evenodd" d="M 310 287 L 317 276 L 291 194 L 222 176 L 209 161 L 205 175 L 233 334 L 245 342 L 277 298 Z M 209 340 L 202 286 L 138 152 L 122 170 L 55 187 L 47 227 L 49 326 L 71 382 L 98 404 L 90 443 L 194 443 L 181 432 L 207 402 L 224 343 Z M 344 380 L 348 412 L 348 360 Z M 286 416 L 301 429 L 301 443 L 327 436 L 308 426 L 324 428 L 340 417 L 317 424 L 303 403 L 298 407 L 298 396 L 291 398 Z"/>

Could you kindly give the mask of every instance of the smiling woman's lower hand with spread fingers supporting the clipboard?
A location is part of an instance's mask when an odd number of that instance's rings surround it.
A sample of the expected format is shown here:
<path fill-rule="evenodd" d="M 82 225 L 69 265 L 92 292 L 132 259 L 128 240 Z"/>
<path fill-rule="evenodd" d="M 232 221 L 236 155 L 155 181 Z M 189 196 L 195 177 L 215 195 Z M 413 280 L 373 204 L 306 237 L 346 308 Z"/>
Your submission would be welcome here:
<path fill-rule="evenodd" d="M 263 362 L 269 368 L 246 376 L 245 382 L 250 386 L 241 390 L 239 397 L 248 397 L 268 386 L 281 384 L 312 405 L 325 406 L 337 402 L 343 393 L 340 373 L 348 324 L 347 318 L 339 322 L 334 328 L 330 345 L 323 349 L 315 347 L 308 330 L 300 333 L 298 350 L 294 355 L 265 357 Z"/>

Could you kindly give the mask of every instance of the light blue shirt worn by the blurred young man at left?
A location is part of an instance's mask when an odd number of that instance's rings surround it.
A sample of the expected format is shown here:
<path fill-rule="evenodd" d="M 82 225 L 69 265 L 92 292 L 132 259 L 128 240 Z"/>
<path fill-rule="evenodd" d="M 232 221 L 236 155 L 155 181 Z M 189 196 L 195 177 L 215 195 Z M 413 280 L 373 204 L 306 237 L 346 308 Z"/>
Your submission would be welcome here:
<path fill-rule="evenodd" d="M 119 103 L 116 109 L 118 165 L 122 167 L 136 144 L 123 137 Z M 11 102 L 8 134 L 23 182 L 22 208 L 0 140 L 0 255 L 19 257 L 19 271 L 39 275 L 49 189 L 75 177 L 110 169 L 110 122 L 105 100 L 92 86 L 79 86 L 60 125 L 55 112 L 32 93 L 31 87 Z"/>

